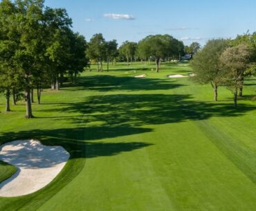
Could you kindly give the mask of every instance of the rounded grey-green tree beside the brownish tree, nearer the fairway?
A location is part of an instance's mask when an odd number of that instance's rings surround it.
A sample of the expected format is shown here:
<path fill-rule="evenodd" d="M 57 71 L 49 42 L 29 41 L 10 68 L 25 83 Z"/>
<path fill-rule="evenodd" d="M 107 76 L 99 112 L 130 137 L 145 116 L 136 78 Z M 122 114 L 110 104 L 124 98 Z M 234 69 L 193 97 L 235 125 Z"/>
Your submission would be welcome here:
<path fill-rule="evenodd" d="M 223 83 L 224 70 L 221 54 L 228 47 L 226 39 L 212 39 L 194 56 L 190 63 L 195 73 L 194 80 L 201 84 L 212 85 L 214 100 L 218 100 L 218 87 Z"/>

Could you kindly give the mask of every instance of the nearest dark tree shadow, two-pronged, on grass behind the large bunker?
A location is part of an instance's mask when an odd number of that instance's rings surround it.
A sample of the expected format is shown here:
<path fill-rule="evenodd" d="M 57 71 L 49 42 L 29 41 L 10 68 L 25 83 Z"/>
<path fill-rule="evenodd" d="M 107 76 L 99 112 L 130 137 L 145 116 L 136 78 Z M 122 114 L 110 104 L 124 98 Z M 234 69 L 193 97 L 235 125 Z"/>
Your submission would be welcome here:
<path fill-rule="evenodd" d="M 62 146 L 72 158 L 94 158 L 98 156 L 113 156 L 122 152 L 149 146 L 148 143 L 122 142 L 121 136 L 140 134 L 152 129 L 132 127 L 80 127 L 64 129 L 34 129 L 29 131 L 6 132 L 0 134 L 0 144 L 12 140 L 40 140 L 47 146 Z M 91 142 L 103 138 L 118 138 L 114 143 Z M 40 149 L 38 149 L 40 150 Z M 56 152 L 57 153 L 57 152 Z M 56 155 L 57 156 L 57 155 Z"/>

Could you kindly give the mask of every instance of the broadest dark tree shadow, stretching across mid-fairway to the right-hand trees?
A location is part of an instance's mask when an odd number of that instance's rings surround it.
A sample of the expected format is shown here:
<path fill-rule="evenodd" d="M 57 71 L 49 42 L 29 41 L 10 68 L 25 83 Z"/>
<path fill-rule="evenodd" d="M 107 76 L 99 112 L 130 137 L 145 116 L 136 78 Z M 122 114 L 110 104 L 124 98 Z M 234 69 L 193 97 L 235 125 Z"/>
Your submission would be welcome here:
<path fill-rule="evenodd" d="M 229 102 L 195 101 L 191 95 L 96 95 L 89 98 L 89 102 L 92 103 L 71 103 L 62 109 L 64 112 L 84 114 L 84 118 L 73 118 L 71 122 L 100 122 L 102 127 L 141 127 L 216 116 L 242 116 L 256 109 L 248 104 L 234 107 Z"/>

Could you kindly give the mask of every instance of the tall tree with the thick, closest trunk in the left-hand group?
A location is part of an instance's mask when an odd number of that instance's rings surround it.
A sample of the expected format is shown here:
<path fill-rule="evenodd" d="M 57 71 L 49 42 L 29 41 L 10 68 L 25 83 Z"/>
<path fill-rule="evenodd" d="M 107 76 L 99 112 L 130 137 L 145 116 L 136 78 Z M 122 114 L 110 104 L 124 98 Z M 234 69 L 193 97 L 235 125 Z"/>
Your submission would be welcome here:
<path fill-rule="evenodd" d="M 15 1 L 17 5 L 17 33 L 20 36 L 19 49 L 15 53 L 16 67 L 23 77 L 23 89 L 26 100 L 26 118 L 33 118 L 31 89 L 40 61 L 40 29 L 43 22 L 43 0 Z"/>

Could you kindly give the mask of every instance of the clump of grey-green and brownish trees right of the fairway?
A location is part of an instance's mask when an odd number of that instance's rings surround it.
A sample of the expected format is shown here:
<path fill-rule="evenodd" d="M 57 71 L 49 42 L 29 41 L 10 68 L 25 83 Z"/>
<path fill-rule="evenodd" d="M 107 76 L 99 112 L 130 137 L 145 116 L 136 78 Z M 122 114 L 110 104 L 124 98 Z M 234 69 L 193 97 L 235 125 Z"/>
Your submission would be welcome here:
<path fill-rule="evenodd" d="M 226 86 L 234 105 L 243 96 L 244 78 L 256 75 L 256 33 L 238 35 L 235 39 L 212 39 L 194 56 L 191 65 L 194 81 L 211 84 L 214 100 L 219 86 Z"/>

